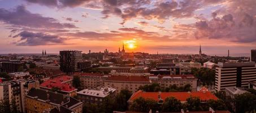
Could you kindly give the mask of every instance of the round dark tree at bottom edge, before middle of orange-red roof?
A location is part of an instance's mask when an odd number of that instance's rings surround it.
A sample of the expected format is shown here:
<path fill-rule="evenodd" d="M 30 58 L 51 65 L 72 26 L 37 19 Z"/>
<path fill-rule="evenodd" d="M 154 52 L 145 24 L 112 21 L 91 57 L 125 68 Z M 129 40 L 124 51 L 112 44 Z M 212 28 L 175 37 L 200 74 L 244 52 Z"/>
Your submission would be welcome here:
<path fill-rule="evenodd" d="M 178 112 L 181 110 L 181 102 L 175 97 L 167 97 L 163 102 L 164 112 Z"/>

